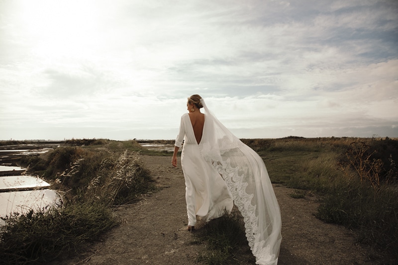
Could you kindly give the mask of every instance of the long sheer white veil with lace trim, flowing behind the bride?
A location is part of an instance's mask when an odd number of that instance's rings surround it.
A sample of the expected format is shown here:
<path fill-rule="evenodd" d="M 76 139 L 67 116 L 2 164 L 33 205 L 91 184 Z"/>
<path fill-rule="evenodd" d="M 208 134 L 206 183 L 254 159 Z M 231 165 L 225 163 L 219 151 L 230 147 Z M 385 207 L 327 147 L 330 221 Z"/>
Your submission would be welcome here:
<path fill-rule="evenodd" d="M 226 182 L 244 218 L 256 264 L 277 265 L 282 241 L 281 211 L 264 162 L 217 120 L 203 99 L 200 102 L 206 114 L 202 156 Z"/>

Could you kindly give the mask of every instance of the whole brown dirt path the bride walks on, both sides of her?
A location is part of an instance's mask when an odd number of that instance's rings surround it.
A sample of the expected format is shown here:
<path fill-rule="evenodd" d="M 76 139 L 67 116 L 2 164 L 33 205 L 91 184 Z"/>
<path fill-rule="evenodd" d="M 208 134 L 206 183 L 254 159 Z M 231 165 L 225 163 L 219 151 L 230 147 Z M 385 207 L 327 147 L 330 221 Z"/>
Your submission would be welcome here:
<path fill-rule="evenodd" d="M 185 183 L 181 166 L 174 169 L 171 157 L 142 156 L 152 172 L 159 192 L 144 196 L 134 205 L 118 207 L 122 223 L 105 235 L 102 242 L 63 264 L 197 264 L 195 257 L 204 244 L 192 244 L 195 233 L 185 230 L 187 214 Z M 342 226 L 316 219 L 314 197 L 294 199 L 293 192 L 275 186 L 282 211 L 279 265 L 375 264 L 367 261 L 367 250 L 355 243 L 354 234 Z"/>

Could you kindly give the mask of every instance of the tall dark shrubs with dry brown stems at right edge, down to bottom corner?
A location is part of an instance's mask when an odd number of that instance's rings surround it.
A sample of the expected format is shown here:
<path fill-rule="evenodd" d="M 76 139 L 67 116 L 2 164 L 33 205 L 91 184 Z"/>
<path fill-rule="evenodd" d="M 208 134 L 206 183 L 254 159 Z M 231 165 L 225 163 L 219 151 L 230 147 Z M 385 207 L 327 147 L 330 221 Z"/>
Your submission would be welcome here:
<path fill-rule="evenodd" d="M 384 168 L 381 158 L 373 157 L 376 153 L 364 142 L 350 145 L 346 160 L 339 162 L 344 175 L 330 183 L 316 216 L 358 228 L 360 241 L 382 253 L 379 260 L 391 263 L 398 260 L 398 189 L 390 181 L 397 175 Z"/>

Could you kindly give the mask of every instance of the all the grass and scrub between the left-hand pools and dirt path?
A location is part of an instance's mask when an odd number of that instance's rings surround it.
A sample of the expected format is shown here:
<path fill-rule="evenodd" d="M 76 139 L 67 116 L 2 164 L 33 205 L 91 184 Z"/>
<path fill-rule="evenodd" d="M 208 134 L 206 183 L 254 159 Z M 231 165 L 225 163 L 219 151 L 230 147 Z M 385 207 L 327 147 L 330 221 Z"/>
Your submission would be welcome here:
<path fill-rule="evenodd" d="M 117 225 L 111 206 L 131 203 L 154 190 L 134 142 L 74 140 L 69 144 L 53 150 L 45 160 L 21 161 L 30 174 L 45 178 L 63 194 L 64 206 L 7 216 L 0 228 L 2 263 L 45 263 L 79 251 L 85 242 Z"/>

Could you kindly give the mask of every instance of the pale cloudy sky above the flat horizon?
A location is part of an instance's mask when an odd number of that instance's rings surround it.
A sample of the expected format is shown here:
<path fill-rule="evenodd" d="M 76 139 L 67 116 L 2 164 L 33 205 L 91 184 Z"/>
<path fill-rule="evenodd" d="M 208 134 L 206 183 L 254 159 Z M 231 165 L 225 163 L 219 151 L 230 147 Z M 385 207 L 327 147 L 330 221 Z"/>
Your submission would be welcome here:
<path fill-rule="evenodd" d="M 0 139 L 398 137 L 396 0 L 0 0 Z"/>

